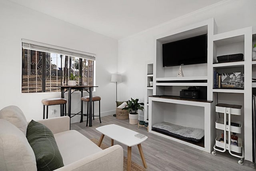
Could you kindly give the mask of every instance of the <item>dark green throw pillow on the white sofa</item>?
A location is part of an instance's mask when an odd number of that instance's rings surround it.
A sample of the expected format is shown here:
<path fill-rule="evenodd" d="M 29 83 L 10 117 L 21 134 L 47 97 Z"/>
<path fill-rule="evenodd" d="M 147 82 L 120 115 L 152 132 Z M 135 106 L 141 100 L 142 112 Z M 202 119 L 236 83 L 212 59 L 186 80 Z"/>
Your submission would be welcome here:
<path fill-rule="evenodd" d="M 26 137 L 35 153 L 38 171 L 52 171 L 64 166 L 57 143 L 48 127 L 32 120 L 28 124 Z"/>

